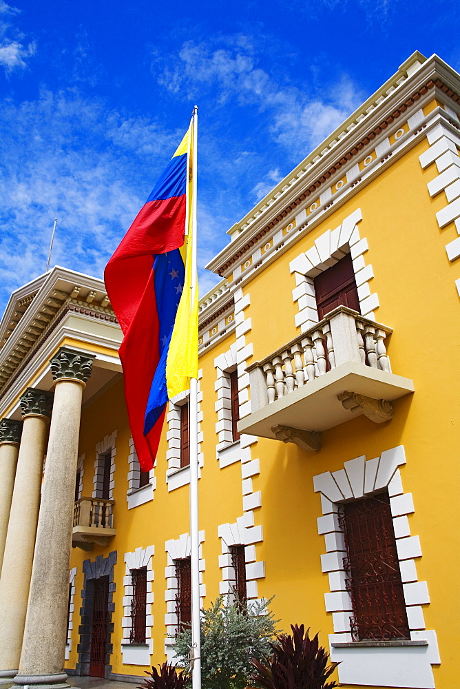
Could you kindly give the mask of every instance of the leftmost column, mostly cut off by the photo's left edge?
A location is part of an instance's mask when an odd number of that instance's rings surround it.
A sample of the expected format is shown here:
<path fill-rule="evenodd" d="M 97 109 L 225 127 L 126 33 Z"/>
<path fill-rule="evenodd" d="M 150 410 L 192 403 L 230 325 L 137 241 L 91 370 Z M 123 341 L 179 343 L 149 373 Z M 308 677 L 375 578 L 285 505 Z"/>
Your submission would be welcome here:
<path fill-rule="evenodd" d="M 0 572 L 10 519 L 21 432 L 22 421 L 12 419 L 0 421 Z"/>

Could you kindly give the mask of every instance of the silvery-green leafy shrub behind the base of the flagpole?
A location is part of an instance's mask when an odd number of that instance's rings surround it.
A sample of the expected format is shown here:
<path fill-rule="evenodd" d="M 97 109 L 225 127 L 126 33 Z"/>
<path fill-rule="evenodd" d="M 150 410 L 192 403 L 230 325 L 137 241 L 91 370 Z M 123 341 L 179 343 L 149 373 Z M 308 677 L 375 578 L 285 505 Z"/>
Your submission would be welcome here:
<path fill-rule="evenodd" d="M 202 689 L 244 689 L 249 684 L 251 659 L 270 652 L 275 620 L 270 601 L 230 604 L 223 596 L 201 611 Z M 176 635 L 178 665 L 188 667 L 191 631 Z M 191 686 L 189 680 L 186 686 Z"/>

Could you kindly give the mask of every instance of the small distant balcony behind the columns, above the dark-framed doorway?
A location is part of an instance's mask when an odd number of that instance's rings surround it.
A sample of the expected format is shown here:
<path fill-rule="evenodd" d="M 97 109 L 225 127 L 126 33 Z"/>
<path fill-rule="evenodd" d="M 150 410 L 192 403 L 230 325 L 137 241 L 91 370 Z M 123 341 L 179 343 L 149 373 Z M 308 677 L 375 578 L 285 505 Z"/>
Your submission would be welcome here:
<path fill-rule="evenodd" d="M 102 500 L 98 497 L 81 497 L 74 505 L 74 528 L 72 546 L 83 551 L 92 550 L 93 543 L 107 546 L 112 536 L 113 506 L 115 500 Z"/>

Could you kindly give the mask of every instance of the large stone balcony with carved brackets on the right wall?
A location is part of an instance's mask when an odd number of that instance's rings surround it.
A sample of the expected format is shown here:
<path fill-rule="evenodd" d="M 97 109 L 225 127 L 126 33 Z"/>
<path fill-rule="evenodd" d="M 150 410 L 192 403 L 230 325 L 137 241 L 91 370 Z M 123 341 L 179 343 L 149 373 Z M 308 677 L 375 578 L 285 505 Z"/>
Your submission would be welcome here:
<path fill-rule="evenodd" d="M 391 372 L 392 329 L 339 306 L 306 333 L 248 367 L 252 413 L 240 433 L 321 448 L 321 432 L 359 416 L 381 423 L 414 391 Z"/>

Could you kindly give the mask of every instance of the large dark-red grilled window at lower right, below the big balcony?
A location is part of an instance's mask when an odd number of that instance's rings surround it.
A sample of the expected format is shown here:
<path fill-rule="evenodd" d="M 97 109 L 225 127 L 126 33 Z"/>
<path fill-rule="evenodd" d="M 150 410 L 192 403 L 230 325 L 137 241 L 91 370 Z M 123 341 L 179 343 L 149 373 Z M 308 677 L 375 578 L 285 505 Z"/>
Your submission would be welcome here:
<path fill-rule="evenodd" d="M 355 641 L 410 639 L 388 491 L 339 508 Z"/>

